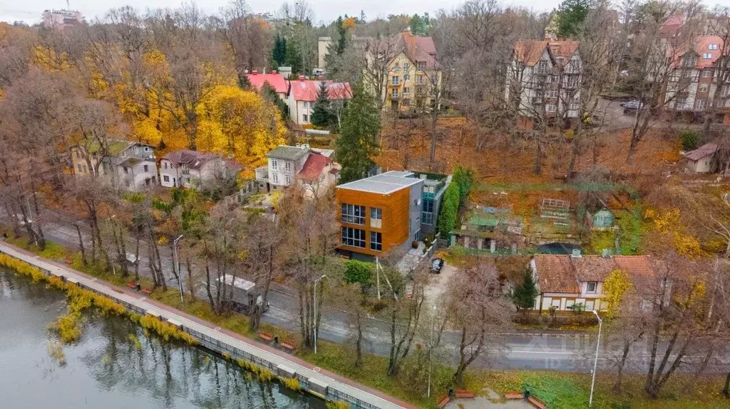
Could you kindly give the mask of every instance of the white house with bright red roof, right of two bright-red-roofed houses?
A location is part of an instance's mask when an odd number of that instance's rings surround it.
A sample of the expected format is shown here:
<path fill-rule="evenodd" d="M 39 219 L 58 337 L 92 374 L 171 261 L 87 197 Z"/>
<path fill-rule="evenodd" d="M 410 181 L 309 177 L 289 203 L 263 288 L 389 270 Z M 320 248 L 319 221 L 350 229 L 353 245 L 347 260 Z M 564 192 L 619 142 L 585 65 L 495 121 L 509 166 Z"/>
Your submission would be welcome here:
<path fill-rule="evenodd" d="M 312 121 L 315 110 L 315 101 L 320 84 L 327 84 L 327 95 L 330 101 L 345 102 L 353 98 L 353 90 L 347 82 L 332 82 L 305 79 L 299 76 L 296 81 L 289 82 L 289 97 L 285 99 L 289 106 L 289 116 L 293 122 L 300 125 Z"/>

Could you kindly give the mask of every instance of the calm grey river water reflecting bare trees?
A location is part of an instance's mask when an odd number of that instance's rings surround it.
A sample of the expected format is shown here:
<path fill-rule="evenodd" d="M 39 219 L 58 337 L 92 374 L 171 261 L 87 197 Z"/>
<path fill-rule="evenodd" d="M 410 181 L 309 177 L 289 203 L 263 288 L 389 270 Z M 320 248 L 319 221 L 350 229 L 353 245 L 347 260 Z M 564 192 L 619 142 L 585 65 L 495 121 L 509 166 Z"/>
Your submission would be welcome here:
<path fill-rule="evenodd" d="M 49 352 L 58 344 L 48 325 L 66 312 L 65 300 L 0 269 L 0 408 L 325 408 L 120 317 L 85 314 L 62 364 Z"/>

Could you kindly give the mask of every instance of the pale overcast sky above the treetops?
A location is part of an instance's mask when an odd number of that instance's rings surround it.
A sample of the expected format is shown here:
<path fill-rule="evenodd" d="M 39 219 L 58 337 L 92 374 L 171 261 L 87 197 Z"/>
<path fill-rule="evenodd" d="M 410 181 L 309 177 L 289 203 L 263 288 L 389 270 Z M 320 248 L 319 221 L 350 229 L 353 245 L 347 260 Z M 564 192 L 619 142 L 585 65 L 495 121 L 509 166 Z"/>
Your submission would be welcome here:
<path fill-rule="evenodd" d="M 220 7 L 229 0 L 199 0 L 196 3 L 206 12 L 217 12 Z M 295 0 L 292 0 L 293 3 Z M 728 1 L 730 0 L 721 0 Z M 248 0 L 254 12 L 274 12 L 283 3 L 279 0 Z M 434 15 L 437 9 L 453 9 L 461 4 L 463 0 L 310 0 L 315 9 L 316 20 L 326 22 L 334 20 L 338 15 L 360 15 L 364 10 L 368 19 L 389 14 L 407 13 L 421 14 L 430 12 Z M 538 11 L 550 10 L 557 7 L 560 0 L 509 0 L 505 4 L 515 4 Z M 83 13 L 86 20 L 93 20 L 93 17 L 103 16 L 104 12 L 113 7 L 131 5 L 141 11 L 147 7 L 177 7 L 180 0 L 70 0 L 71 9 L 77 9 Z M 64 0 L 0 0 L 0 21 L 12 23 L 16 20 L 25 21 L 28 24 L 39 23 L 41 13 L 45 9 L 65 9 Z"/>

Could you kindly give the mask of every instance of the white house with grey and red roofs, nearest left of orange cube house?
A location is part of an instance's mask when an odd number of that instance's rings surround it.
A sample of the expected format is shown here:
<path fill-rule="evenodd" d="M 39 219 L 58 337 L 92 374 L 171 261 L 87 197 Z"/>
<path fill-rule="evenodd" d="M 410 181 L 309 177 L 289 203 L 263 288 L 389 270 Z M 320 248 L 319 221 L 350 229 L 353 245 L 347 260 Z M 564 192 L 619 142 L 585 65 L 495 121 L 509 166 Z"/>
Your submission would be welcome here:
<path fill-rule="evenodd" d="M 307 144 L 280 145 L 266 154 L 268 164 L 256 168 L 259 191 L 277 191 L 299 183 L 307 196 L 319 196 L 337 184 L 341 167 L 331 158 L 330 149 Z"/>

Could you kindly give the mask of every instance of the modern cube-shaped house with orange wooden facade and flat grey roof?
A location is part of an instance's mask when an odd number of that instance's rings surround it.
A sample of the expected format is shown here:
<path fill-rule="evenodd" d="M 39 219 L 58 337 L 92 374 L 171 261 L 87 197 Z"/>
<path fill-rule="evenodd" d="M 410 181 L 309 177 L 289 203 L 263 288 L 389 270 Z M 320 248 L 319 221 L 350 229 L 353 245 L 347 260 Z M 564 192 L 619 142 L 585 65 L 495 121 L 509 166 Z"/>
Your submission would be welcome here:
<path fill-rule="evenodd" d="M 367 260 L 420 239 L 425 181 L 391 170 L 337 186 L 339 250 Z"/>

